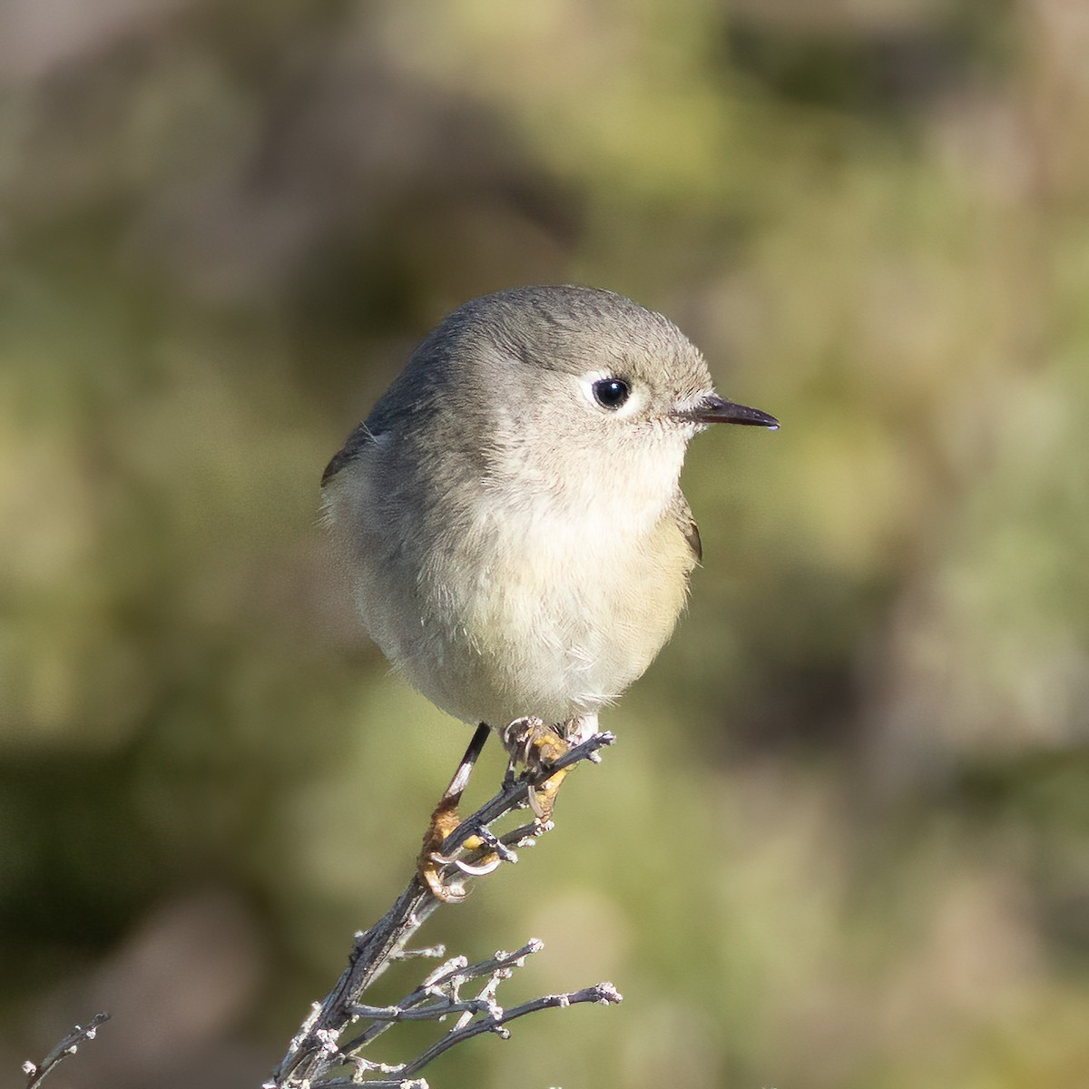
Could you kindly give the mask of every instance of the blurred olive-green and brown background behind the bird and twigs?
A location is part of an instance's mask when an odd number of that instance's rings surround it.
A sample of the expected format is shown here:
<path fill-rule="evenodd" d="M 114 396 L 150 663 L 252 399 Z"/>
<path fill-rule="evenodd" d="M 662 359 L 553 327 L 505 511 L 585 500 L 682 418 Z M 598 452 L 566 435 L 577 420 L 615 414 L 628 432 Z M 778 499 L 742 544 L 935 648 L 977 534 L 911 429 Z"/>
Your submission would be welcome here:
<path fill-rule="evenodd" d="M 624 1005 L 431 1085 L 1089 1085 L 1086 56 L 1080 0 L 8 0 L 0 1085 L 103 1006 L 58 1089 L 255 1085 L 403 888 L 467 730 L 318 477 L 564 281 L 783 428 L 694 444 L 619 744 L 421 935 Z"/>

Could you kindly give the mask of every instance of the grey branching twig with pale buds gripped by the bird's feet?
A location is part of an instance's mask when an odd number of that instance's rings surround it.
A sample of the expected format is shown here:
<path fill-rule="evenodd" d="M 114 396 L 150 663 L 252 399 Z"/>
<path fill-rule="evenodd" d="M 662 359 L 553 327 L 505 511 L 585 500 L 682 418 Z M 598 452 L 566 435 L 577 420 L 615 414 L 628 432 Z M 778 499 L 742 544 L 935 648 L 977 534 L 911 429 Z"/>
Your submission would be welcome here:
<path fill-rule="evenodd" d="M 474 738 L 470 750 L 477 739 Z M 444 882 L 456 880 L 461 885 L 466 880 L 491 872 L 504 861 L 517 861 L 512 848 L 533 845 L 536 837 L 541 832 L 548 831 L 551 824 L 535 821 L 504 835 L 497 835 L 491 825 L 509 813 L 526 808 L 530 790 L 540 786 L 556 772 L 583 761 L 598 762 L 600 760 L 598 750 L 612 744 L 613 739 L 613 735 L 609 733 L 595 734 L 547 768 L 534 769 L 524 772 L 517 779 L 509 776 L 504 780 L 502 788 L 494 797 L 462 821 L 443 840 L 441 856 L 449 861 L 441 868 L 442 880 Z M 474 843 L 466 849 L 465 844 L 470 839 L 474 839 Z M 480 845 L 477 846 L 477 843 Z M 481 865 L 484 859 L 489 859 L 487 865 Z M 347 967 L 337 986 L 322 1002 L 315 1003 L 311 1007 L 310 1014 L 292 1039 L 287 1053 L 261 1089 L 309 1089 L 309 1087 L 333 1089 L 334 1086 L 359 1084 L 366 1084 L 371 1089 L 380 1086 L 396 1086 L 399 1089 L 423 1087 L 426 1082 L 414 1080 L 411 1076 L 421 1069 L 425 1063 L 462 1040 L 480 1032 L 492 1031 L 502 1035 L 505 1031 L 503 1026 L 515 1016 L 521 1017 L 549 1006 L 620 1001 L 611 984 L 600 983 L 597 988 L 587 988 L 571 994 L 537 999 L 504 1014 L 494 1003 L 494 989 L 502 979 L 510 976 L 513 968 L 521 966 L 527 955 L 538 951 L 540 943 L 530 942 L 517 953 L 497 954 L 495 957 L 477 965 L 469 966 L 464 958 L 455 958 L 436 972 L 431 972 L 424 983 L 397 1003 L 396 1007 L 372 1007 L 364 1003 L 362 1000 L 365 992 L 393 960 L 412 956 L 442 955 L 441 947 L 415 951 L 405 949 L 407 942 L 440 903 L 441 901 L 419 877 L 414 877 L 389 911 L 368 931 L 356 934 Z M 463 1000 L 458 994 L 458 988 L 466 980 L 484 975 L 488 976 L 488 982 L 481 992 L 474 999 Z M 429 1000 L 432 1001 L 432 1005 L 420 1010 L 419 1007 Z M 394 1010 L 403 1012 L 394 1013 L 392 1012 Z M 460 1015 L 455 1029 L 409 1064 L 387 1067 L 370 1063 L 358 1055 L 362 1048 L 397 1020 L 425 1017 L 438 1019 L 453 1014 Z M 351 1042 L 342 1045 L 340 1041 L 344 1030 L 360 1019 L 370 1020 L 370 1026 Z M 354 1080 L 335 1076 L 335 1070 L 345 1065 L 356 1067 Z M 396 1078 L 365 1081 L 364 1075 L 369 1070 L 394 1074 Z"/>

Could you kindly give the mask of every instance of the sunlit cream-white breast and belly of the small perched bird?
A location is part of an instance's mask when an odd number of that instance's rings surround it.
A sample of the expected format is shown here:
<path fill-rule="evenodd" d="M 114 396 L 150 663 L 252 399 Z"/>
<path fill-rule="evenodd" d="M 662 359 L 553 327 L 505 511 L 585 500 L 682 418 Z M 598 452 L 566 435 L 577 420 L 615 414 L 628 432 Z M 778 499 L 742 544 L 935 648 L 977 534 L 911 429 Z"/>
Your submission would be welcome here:
<path fill-rule="evenodd" d="M 661 510 L 499 499 L 451 537 L 428 596 L 445 613 L 446 661 L 505 708 L 492 714 L 597 710 L 644 672 L 684 604 L 690 554 Z"/>

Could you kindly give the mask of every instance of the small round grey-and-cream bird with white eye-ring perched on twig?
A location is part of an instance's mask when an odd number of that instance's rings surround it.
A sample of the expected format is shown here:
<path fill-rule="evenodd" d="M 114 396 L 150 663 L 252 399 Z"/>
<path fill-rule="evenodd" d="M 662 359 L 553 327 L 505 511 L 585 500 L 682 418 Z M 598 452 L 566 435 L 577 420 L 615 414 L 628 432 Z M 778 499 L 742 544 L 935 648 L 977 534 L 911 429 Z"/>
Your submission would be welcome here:
<path fill-rule="evenodd" d="M 720 423 L 779 427 L 721 397 L 699 350 L 631 298 L 470 299 L 322 475 L 364 627 L 443 711 L 554 759 L 673 632 L 702 558 L 681 469 Z"/>

